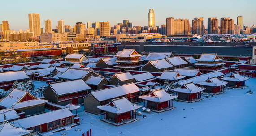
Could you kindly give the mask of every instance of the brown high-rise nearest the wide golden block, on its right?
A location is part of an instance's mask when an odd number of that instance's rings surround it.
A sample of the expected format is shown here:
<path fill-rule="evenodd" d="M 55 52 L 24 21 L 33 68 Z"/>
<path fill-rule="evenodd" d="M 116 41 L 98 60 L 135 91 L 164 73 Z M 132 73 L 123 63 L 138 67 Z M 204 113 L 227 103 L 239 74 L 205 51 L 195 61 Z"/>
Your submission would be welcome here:
<path fill-rule="evenodd" d="M 192 34 L 202 35 L 204 34 L 204 18 L 194 18 L 192 20 Z"/>

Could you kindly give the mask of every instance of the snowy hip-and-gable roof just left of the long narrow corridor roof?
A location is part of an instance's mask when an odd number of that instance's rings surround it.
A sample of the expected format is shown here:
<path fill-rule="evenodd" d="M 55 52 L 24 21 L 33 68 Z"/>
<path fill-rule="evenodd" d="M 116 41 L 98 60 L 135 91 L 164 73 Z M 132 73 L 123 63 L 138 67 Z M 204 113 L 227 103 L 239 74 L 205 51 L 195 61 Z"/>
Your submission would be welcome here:
<path fill-rule="evenodd" d="M 161 76 L 157 76 L 156 78 L 161 80 L 179 80 L 179 79 L 185 78 L 185 76 L 181 76 L 178 72 L 165 70 L 161 74 Z"/>

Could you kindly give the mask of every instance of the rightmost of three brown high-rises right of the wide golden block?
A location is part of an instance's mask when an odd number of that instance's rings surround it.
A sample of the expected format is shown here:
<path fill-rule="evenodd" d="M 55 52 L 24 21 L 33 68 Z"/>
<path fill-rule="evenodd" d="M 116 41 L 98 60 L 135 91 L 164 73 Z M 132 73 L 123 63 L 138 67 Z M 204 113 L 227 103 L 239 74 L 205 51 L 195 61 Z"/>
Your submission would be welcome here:
<path fill-rule="evenodd" d="M 221 34 L 234 33 L 234 20 L 230 18 L 221 18 Z"/>

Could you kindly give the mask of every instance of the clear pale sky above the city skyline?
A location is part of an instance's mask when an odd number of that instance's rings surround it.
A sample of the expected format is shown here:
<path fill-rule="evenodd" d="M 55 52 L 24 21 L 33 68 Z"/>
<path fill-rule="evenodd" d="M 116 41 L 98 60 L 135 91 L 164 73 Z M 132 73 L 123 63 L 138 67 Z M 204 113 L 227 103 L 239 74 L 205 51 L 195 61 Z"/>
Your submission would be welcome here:
<path fill-rule="evenodd" d="M 0 21 L 9 21 L 11 29 L 28 28 L 28 14 L 39 13 L 41 28 L 44 20 L 52 20 L 52 28 L 63 19 L 65 25 L 75 22 L 109 21 L 111 26 L 128 19 L 133 26 L 148 25 L 148 10 L 155 10 L 156 25 L 165 18 L 230 17 L 236 23 L 243 16 L 243 24 L 256 25 L 255 0 L 4 0 L 1 2 Z M 211 0 L 212 1 L 212 0 Z"/>

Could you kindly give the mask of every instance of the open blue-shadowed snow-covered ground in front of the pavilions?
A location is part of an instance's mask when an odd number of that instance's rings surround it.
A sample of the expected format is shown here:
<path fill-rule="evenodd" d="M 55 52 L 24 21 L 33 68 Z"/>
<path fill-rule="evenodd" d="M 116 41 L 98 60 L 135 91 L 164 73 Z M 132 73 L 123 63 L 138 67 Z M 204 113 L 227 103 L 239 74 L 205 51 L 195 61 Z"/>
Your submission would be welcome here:
<path fill-rule="evenodd" d="M 78 109 L 81 125 L 52 136 L 81 136 L 90 128 L 93 136 L 256 136 L 256 78 L 246 89 L 204 98 L 195 103 L 174 102 L 176 109 L 151 112 L 146 118 L 121 126 L 100 121 L 102 116 Z M 253 94 L 246 94 L 251 89 Z M 138 116 L 137 116 L 138 117 Z M 81 131 L 75 131 L 80 128 Z"/>

